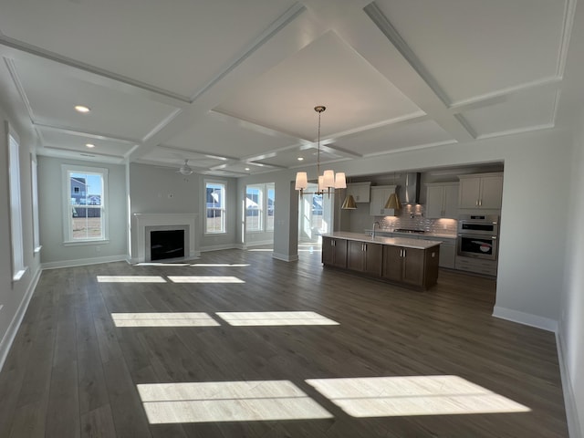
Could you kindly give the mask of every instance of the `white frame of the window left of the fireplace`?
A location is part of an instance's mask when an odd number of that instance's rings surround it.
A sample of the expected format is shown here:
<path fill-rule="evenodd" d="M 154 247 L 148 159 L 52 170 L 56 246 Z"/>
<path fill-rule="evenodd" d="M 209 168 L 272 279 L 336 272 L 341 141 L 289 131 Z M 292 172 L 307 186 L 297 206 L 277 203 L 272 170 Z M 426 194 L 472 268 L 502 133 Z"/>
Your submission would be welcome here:
<path fill-rule="evenodd" d="M 71 173 L 86 173 L 90 175 L 99 175 L 101 177 L 102 183 L 102 193 L 99 201 L 99 210 L 101 218 L 101 236 L 100 237 L 86 237 L 83 239 L 73 238 L 73 227 L 71 221 L 71 183 L 70 174 Z M 78 164 L 62 164 L 61 165 L 62 174 L 62 192 L 63 192 L 63 245 L 94 245 L 99 243 L 110 242 L 109 238 L 109 192 L 108 192 L 108 176 L 109 170 L 101 167 L 89 167 Z M 86 197 L 89 193 L 86 193 Z M 87 207 L 87 204 L 86 204 Z M 93 207 L 89 207 L 93 208 Z"/>

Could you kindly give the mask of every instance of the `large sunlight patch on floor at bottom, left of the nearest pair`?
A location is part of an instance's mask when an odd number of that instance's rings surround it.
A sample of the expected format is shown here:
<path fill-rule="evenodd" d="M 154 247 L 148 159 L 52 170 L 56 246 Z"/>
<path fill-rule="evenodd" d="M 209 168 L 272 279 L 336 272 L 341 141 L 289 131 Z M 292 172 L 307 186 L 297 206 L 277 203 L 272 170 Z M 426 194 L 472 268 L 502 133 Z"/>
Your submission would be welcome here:
<path fill-rule="evenodd" d="M 151 424 L 332 418 L 291 381 L 139 384 Z"/>

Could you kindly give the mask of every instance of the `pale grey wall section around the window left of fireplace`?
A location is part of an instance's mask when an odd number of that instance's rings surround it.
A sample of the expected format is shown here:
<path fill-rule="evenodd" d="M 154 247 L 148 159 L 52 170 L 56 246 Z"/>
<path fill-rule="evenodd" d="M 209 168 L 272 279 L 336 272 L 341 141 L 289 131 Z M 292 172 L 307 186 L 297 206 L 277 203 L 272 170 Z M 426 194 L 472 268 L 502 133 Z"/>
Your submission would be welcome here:
<path fill-rule="evenodd" d="M 63 245 L 63 188 L 61 164 L 108 169 L 110 242 L 96 245 Z M 38 204 L 44 267 L 72 266 L 124 260 L 127 249 L 125 167 L 121 164 L 80 162 L 38 157 Z"/>

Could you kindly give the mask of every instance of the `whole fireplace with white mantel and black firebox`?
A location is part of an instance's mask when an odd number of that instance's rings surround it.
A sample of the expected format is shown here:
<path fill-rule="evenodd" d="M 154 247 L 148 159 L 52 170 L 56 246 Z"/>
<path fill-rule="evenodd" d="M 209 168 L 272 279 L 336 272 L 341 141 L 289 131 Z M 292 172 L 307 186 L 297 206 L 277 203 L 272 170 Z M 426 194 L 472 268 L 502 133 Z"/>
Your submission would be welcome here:
<path fill-rule="evenodd" d="M 196 214 L 134 214 L 132 241 L 138 256 L 132 263 L 164 259 L 196 258 L 194 248 Z M 135 236 L 135 238 L 134 238 Z M 132 255 L 133 255 L 132 254 Z"/>

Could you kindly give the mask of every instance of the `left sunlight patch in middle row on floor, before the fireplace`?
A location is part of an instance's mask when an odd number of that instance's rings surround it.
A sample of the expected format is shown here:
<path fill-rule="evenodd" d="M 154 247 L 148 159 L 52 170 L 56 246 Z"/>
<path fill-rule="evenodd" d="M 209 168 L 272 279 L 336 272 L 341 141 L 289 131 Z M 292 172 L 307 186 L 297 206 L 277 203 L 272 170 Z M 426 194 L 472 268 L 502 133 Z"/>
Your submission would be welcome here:
<path fill-rule="evenodd" d="M 216 327 L 220 324 L 203 312 L 112 313 L 116 327 Z"/>

